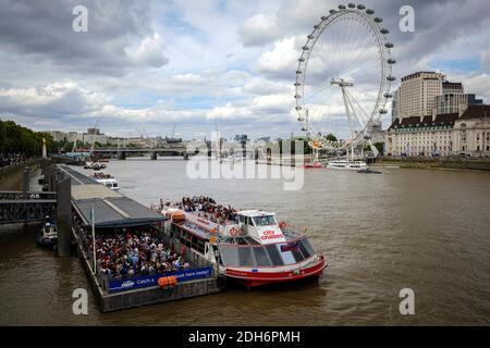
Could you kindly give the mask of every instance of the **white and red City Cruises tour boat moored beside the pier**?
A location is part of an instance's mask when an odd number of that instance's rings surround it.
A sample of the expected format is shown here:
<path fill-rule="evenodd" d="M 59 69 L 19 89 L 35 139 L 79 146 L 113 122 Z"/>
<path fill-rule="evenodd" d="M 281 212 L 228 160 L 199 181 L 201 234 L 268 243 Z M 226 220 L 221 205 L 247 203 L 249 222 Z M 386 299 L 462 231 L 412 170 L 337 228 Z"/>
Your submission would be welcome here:
<path fill-rule="evenodd" d="M 221 275 L 247 288 L 318 277 L 328 265 L 305 235 L 278 223 L 274 213 L 243 210 L 236 212 L 236 221 L 217 223 L 204 211 L 158 210 L 170 217 L 164 228 L 170 239 L 199 253 Z"/>

